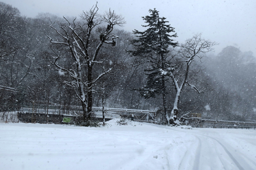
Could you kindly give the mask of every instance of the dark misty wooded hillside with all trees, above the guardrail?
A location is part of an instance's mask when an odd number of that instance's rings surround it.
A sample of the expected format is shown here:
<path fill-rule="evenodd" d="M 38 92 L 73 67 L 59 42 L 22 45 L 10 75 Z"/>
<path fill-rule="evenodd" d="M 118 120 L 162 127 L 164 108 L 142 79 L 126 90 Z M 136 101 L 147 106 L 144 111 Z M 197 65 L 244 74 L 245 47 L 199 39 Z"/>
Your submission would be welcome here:
<path fill-rule="evenodd" d="M 87 10 L 77 18 L 27 18 L 0 3 L 1 112 L 82 106 L 89 120 L 91 107 L 104 104 L 162 109 L 168 121 L 188 112 L 256 121 L 252 52 L 228 46 L 213 55 L 208 52 L 219 42 L 201 34 L 176 42 L 175 25 L 156 10 L 143 18 L 143 31 L 134 32 L 117 27 L 125 24 L 121 14 L 100 14 L 97 5 Z"/>

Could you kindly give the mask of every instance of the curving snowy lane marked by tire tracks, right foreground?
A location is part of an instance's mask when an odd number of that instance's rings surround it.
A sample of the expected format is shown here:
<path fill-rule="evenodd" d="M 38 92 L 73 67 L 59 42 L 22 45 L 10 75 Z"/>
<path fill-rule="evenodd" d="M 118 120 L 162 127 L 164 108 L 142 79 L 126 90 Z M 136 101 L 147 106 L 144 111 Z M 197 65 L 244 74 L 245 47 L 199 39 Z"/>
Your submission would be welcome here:
<path fill-rule="evenodd" d="M 171 130 L 177 131 L 177 132 L 184 132 L 184 131 L 178 131 L 174 129 L 171 129 Z M 189 134 L 198 138 L 201 142 L 201 145 L 202 144 L 203 145 L 200 146 L 200 142 L 199 142 L 197 149 L 194 149 L 192 146 L 187 148 L 187 151 L 185 152 L 182 160 L 180 161 L 178 169 L 180 170 L 181 169 L 193 169 L 193 170 L 203 169 L 204 166 L 210 169 L 215 168 L 215 169 L 227 169 L 227 170 L 228 169 L 239 169 L 239 170 L 256 169 L 256 163 L 253 160 L 245 156 L 243 153 L 236 152 L 232 146 L 225 144 L 225 142 L 223 143 L 222 141 L 220 142 L 214 137 L 209 137 L 201 134 L 195 134 L 195 133 L 189 133 Z M 210 141 L 208 141 L 210 143 L 207 144 L 207 141 L 205 141 L 204 138 L 201 138 L 199 136 L 202 136 L 206 139 L 207 138 L 210 139 Z M 202 149 L 206 149 L 206 150 L 203 151 Z M 196 153 L 196 155 L 193 153 Z M 210 159 L 208 155 L 211 156 Z M 194 166 L 191 166 L 193 165 L 193 160 L 192 160 L 193 158 L 191 157 L 195 157 Z M 221 167 L 218 165 L 215 166 L 214 161 L 218 161 L 219 163 L 221 163 L 222 166 Z"/>

